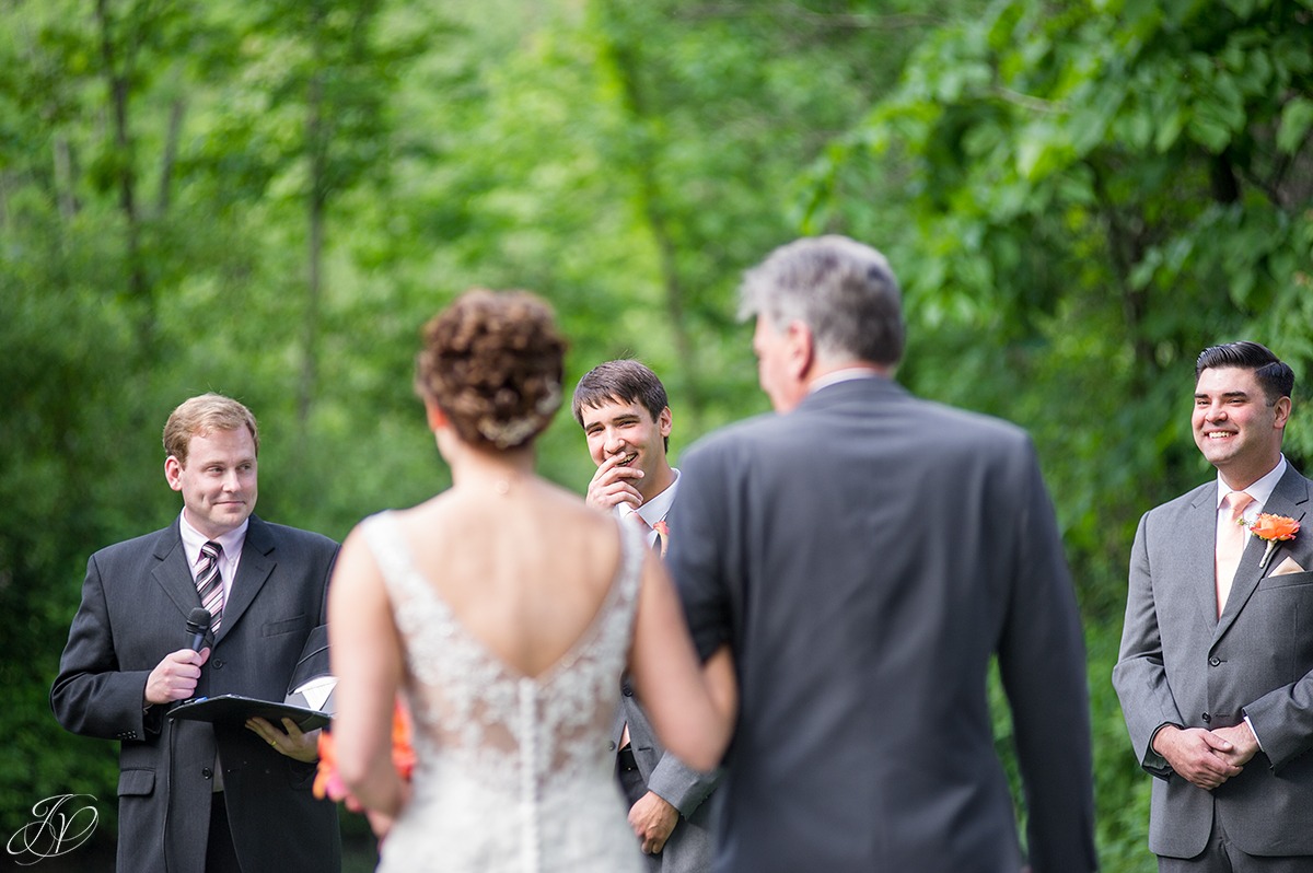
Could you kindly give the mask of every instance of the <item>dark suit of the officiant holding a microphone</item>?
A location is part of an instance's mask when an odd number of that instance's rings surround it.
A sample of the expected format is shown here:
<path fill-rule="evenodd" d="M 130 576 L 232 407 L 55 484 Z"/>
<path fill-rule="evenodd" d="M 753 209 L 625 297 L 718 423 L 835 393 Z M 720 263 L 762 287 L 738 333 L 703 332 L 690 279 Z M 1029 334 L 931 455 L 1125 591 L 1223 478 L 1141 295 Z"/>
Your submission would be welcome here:
<path fill-rule="evenodd" d="M 336 555 L 327 537 L 251 517 L 198 697 L 284 698 L 306 638 L 324 621 Z M 337 811 L 312 797 L 314 764 L 277 754 L 240 725 L 171 722 L 168 706 L 143 710 L 147 676 L 186 645 L 186 617 L 197 605 L 177 521 L 87 563 L 50 704 L 66 729 L 121 742 L 118 869 L 202 872 L 215 747 L 225 784 L 218 797 L 243 869 L 340 869 Z"/>

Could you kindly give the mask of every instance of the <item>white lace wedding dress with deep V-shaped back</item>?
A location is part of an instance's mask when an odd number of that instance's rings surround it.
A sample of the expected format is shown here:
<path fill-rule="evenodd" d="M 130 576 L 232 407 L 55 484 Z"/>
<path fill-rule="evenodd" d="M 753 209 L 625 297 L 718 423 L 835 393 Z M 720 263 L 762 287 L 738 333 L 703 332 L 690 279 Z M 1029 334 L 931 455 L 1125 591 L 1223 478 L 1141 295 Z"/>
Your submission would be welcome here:
<path fill-rule="evenodd" d="M 592 624 L 529 677 L 456 620 L 390 513 L 365 520 L 404 642 L 418 756 L 381 872 L 641 869 L 607 751 L 645 553 L 632 526 L 621 528 L 620 568 Z"/>

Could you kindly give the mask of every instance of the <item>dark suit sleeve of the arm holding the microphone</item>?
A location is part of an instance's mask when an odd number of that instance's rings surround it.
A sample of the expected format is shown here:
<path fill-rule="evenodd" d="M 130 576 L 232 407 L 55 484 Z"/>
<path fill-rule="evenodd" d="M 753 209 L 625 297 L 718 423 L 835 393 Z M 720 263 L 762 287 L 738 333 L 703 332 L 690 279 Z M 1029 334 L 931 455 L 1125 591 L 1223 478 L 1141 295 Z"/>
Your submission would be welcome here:
<path fill-rule="evenodd" d="M 97 555 L 87 562 L 81 603 L 59 659 L 50 705 L 64 729 L 101 739 L 146 739 L 158 719 L 143 710 L 150 671 L 121 671 Z M 152 710 L 155 708 L 151 708 Z"/>

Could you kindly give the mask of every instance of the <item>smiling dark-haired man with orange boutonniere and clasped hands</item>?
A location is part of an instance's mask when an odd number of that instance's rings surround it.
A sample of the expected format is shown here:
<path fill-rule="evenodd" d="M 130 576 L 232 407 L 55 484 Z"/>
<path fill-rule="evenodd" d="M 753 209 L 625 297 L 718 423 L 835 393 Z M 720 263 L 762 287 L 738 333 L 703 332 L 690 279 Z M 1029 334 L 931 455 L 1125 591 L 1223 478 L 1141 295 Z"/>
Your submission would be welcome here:
<path fill-rule="evenodd" d="M 1313 530 L 1293 530 L 1313 483 L 1281 454 L 1295 373 L 1232 343 L 1195 377 L 1217 478 L 1140 520 L 1112 672 L 1158 777 L 1149 848 L 1163 873 L 1313 873 Z"/>

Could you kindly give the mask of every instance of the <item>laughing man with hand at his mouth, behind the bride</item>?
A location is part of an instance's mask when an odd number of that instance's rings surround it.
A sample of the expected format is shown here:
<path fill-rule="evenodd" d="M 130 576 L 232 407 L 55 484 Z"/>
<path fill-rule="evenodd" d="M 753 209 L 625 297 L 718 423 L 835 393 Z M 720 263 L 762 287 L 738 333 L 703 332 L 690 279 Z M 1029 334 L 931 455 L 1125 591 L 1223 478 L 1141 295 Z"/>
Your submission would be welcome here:
<path fill-rule="evenodd" d="M 647 542 L 664 551 L 666 513 L 675 501 L 679 470 L 670 466 L 671 412 L 666 389 L 638 361 L 608 361 L 575 387 L 575 420 L 588 440 L 597 471 L 587 501 L 642 525 Z M 704 803 L 720 780 L 666 754 L 628 677 L 612 731 L 616 775 L 630 805 L 629 824 L 651 870 L 710 870 L 716 857 Z"/>

